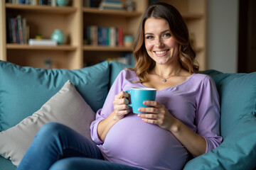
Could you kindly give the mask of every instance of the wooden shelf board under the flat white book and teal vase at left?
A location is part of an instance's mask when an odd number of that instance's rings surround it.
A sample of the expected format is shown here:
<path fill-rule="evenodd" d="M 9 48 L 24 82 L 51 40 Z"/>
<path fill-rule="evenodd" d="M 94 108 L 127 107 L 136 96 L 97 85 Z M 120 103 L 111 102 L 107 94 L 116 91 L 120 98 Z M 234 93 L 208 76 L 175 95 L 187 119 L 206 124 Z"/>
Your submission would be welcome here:
<path fill-rule="evenodd" d="M 60 51 L 75 51 L 77 47 L 70 45 L 58 45 L 58 46 L 43 46 L 43 45 L 19 45 L 19 44 L 7 44 L 7 50 L 60 50 Z"/>

